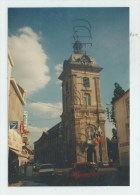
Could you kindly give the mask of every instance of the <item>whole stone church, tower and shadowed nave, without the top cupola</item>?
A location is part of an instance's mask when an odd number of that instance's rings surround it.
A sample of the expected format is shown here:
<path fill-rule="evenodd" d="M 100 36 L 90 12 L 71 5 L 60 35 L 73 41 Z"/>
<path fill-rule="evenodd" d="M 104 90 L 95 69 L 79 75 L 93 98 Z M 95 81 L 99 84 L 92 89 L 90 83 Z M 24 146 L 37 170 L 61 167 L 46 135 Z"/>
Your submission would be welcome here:
<path fill-rule="evenodd" d="M 76 50 L 77 51 L 77 50 Z M 64 61 L 61 122 L 34 143 L 35 161 L 71 166 L 74 162 L 108 162 L 100 71 L 94 58 L 73 53 Z"/>

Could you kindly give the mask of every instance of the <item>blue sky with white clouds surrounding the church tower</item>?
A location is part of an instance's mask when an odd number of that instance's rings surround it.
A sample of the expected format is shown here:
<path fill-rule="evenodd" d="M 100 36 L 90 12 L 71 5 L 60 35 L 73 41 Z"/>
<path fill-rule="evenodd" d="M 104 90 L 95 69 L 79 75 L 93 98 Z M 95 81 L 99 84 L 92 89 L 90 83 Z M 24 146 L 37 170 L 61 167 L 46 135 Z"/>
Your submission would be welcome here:
<path fill-rule="evenodd" d="M 60 121 L 62 64 L 73 52 L 73 25 L 88 20 L 93 46 L 87 48 L 103 70 L 100 75 L 104 108 L 114 83 L 129 88 L 129 8 L 9 8 L 9 47 L 15 62 L 12 75 L 27 91 L 25 110 L 31 145 L 43 130 Z M 107 123 L 107 136 L 111 124 Z"/>

